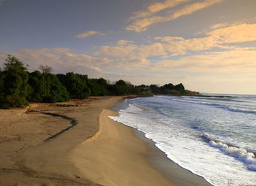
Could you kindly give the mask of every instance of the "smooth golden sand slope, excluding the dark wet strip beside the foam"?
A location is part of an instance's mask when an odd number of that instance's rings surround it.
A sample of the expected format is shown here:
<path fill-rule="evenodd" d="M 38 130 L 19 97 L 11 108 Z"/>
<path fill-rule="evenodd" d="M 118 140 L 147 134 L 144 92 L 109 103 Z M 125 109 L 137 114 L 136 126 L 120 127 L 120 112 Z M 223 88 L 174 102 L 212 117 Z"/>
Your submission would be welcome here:
<path fill-rule="evenodd" d="M 109 115 L 118 113 L 104 109 L 99 133 L 72 151 L 72 161 L 81 174 L 100 185 L 176 185 L 148 162 L 150 148 L 135 137 L 134 130 Z"/>

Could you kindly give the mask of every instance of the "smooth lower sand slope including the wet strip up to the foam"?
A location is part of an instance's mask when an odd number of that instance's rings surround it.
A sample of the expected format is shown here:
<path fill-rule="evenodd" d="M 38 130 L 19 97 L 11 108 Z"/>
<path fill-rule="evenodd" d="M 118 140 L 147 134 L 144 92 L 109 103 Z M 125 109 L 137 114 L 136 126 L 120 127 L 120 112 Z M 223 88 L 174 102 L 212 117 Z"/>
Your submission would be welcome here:
<path fill-rule="evenodd" d="M 118 112 L 104 109 L 99 117 L 99 132 L 78 145 L 73 152 L 73 161 L 90 180 L 102 185 L 130 185 L 131 183 L 126 179 L 133 180 L 132 185 L 211 185 L 203 177 L 193 174 L 167 158 L 151 139 L 145 137 L 144 133 L 118 123 L 108 116 L 118 116 Z M 117 141 L 121 141 L 121 144 L 116 143 Z M 108 144 L 111 144 L 111 147 L 108 147 Z M 91 155 L 88 151 L 92 152 Z M 122 157 L 118 156 L 120 151 Z M 83 157 L 80 156 L 81 154 Z M 113 158 L 121 163 L 116 163 Z M 125 170 L 117 169 L 124 166 L 125 161 L 131 160 L 133 162 L 129 166 L 126 164 Z M 90 162 L 97 162 L 100 166 L 90 165 Z M 105 162 L 111 163 L 106 165 Z M 138 164 L 143 166 L 139 167 Z M 111 174 L 106 173 L 105 170 Z M 125 174 L 125 177 L 120 177 L 116 171 Z M 151 173 L 143 175 L 144 172 Z M 136 174 L 140 174 L 139 179 Z"/>

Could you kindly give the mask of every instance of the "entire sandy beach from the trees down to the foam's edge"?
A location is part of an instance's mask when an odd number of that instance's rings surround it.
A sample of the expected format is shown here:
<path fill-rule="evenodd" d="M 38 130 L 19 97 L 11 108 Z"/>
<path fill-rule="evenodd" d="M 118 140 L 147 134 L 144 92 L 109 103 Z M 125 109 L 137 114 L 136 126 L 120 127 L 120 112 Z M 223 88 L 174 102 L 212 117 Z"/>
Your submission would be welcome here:
<path fill-rule="evenodd" d="M 209 185 L 111 120 L 122 98 L 1 110 L 0 185 Z"/>

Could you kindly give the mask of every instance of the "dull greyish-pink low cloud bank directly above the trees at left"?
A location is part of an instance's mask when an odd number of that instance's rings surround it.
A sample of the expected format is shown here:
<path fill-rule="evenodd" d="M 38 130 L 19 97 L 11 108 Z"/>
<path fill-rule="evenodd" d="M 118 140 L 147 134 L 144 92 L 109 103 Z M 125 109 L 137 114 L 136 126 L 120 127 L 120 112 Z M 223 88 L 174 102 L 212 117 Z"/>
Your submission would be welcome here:
<path fill-rule="evenodd" d="M 6 52 L 0 51 L 0 59 L 4 61 Z M 47 65 L 53 68 L 54 73 L 66 73 L 75 71 L 80 74 L 89 74 L 91 77 L 104 73 L 100 66 L 109 63 L 106 58 L 94 58 L 91 55 L 75 54 L 68 48 L 40 48 L 40 49 L 20 49 L 11 55 L 19 58 L 20 61 L 29 65 L 29 70 L 39 70 L 39 65 Z"/>

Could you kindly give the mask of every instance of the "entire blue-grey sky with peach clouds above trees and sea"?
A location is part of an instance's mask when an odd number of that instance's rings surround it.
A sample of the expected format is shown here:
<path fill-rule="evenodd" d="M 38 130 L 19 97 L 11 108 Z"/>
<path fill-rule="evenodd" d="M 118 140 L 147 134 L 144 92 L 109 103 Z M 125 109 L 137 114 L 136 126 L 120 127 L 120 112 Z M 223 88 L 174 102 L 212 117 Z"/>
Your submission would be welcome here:
<path fill-rule="evenodd" d="M 0 0 L 7 54 L 29 71 L 256 94 L 256 1 Z"/>

